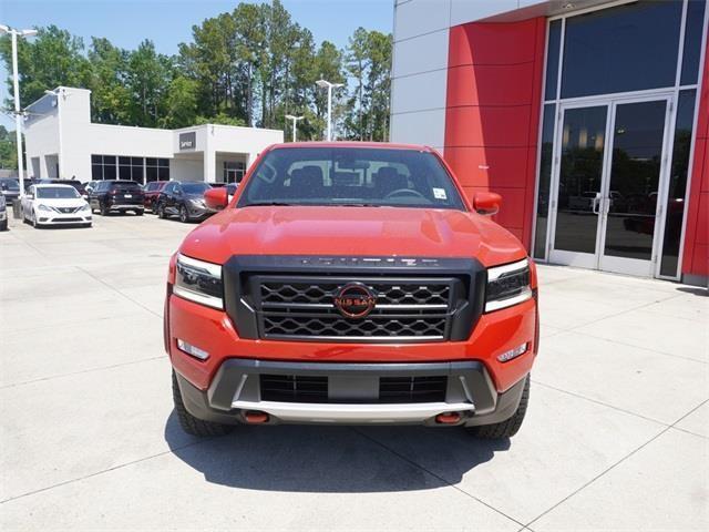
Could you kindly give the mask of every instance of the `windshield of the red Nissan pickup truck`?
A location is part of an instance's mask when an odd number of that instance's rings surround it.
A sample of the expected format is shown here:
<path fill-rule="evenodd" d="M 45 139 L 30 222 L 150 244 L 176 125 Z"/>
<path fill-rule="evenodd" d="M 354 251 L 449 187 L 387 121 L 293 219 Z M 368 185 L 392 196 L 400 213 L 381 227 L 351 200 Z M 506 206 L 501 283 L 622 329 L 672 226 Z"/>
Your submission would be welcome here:
<path fill-rule="evenodd" d="M 246 184 L 238 206 L 269 204 L 465 208 L 434 154 L 374 147 L 269 152 Z"/>

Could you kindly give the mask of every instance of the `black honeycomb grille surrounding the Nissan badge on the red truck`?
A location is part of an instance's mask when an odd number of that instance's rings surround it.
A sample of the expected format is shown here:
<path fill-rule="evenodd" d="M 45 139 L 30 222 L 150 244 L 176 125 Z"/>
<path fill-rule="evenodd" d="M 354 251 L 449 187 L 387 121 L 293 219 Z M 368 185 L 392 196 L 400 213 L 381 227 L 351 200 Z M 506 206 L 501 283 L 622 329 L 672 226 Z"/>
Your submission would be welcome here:
<path fill-rule="evenodd" d="M 337 291 L 348 283 L 376 295 L 363 318 L 343 317 L 335 308 Z M 332 278 L 254 276 L 249 291 L 259 335 L 269 339 L 443 341 L 455 301 L 465 298 L 458 278 Z"/>

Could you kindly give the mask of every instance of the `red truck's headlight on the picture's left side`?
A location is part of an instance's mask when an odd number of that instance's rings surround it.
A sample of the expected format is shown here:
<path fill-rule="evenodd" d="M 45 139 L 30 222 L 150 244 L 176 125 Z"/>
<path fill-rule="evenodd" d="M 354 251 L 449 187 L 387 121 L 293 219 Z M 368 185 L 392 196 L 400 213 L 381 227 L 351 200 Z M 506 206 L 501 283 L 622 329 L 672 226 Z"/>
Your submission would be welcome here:
<path fill-rule="evenodd" d="M 208 307 L 224 308 L 222 266 L 177 255 L 173 294 Z"/>

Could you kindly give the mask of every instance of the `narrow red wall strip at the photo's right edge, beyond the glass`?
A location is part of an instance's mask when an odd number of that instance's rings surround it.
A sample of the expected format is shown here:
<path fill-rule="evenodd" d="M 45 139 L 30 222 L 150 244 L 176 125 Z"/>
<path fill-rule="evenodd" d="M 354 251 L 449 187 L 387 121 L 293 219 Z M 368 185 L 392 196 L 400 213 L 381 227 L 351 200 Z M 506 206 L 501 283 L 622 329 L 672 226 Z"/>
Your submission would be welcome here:
<path fill-rule="evenodd" d="M 699 93 L 699 117 L 689 184 L 687 228 L 682 250 L 682 274 L 709 276 L 709 42 Z"/>

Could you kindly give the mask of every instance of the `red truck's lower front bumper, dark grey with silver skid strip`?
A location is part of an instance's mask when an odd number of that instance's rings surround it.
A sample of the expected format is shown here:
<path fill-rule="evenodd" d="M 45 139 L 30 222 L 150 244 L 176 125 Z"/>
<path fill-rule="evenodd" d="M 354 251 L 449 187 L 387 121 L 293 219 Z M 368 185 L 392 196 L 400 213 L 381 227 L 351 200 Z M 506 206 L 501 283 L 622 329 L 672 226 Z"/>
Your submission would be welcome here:
<path fill-rule="evenodd" d="M 329 399 L 323 402 L 261 400 L 260 375 L 322 377 L 329 380 Z M 384 377 L 445 376 L 445 400 L 435 402 L 376 402 L 377 383 Z M 212 386 L 199 390 L 177 374 L 185 408 L 196 418 L 236 424 L 245 412 L 268 413 L 268 422 L 347 424 L 428 424 L 436 416 L 456 412 L 460 419 L 446 424 L 490 424 L 513 416 L 520 405 L 525 378 L 505 392 L 497 392 L 485 367 L 477 361 L 443 364 L 298 364 L 248 359 L 225 361 Z M 372 397 L 362 390 L 373 390 Z M 354 391 L 356 390 L 356 391 Z M 342 397 L 356 393 L 357 400 Z M 350 396 L 351 397 L 351 396 Z"/>

